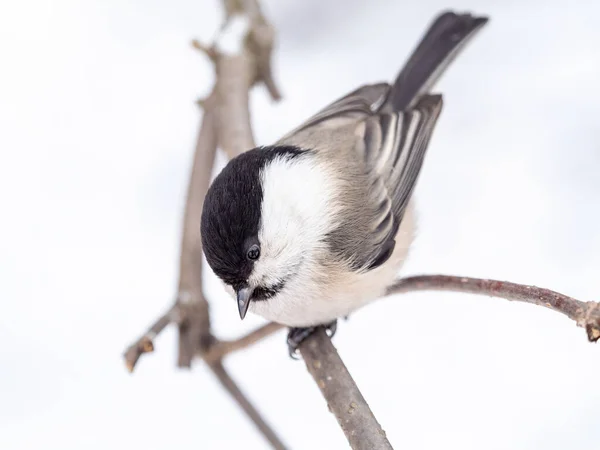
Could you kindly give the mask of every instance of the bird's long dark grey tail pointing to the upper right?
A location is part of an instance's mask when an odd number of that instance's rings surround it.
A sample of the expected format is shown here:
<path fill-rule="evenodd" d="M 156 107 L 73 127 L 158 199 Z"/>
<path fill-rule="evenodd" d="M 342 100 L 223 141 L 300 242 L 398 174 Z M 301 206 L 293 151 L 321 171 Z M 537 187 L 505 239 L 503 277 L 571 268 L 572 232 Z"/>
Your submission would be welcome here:
<path fill-rule="evenodd" d="M 454 12 L 440 14 L 392 86 L 388 104 L 393 110 L 406 110 L 414 106 L 422 94 L 429 92 L 470 38 L 487 22 L 488 18 L 483 16 Z"/>

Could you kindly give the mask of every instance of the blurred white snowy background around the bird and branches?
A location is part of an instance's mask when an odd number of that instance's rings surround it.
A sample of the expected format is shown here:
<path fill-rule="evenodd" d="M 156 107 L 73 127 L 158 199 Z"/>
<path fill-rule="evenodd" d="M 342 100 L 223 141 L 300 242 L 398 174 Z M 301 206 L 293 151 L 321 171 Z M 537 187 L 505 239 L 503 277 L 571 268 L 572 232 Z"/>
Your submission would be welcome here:
<path fill-rule="evenodd" d="M 391 79 L 439 10 L 489 14 L 438 85 L 405 273 L 599 298 L 600 3 L 262 3 L 285 95 L 253 93 L 263 144 Z M 174 296 L 194 101 L 213 82 L 189 41 L 220 23 L 217 0 L 0 4 L 0 448 L 266 447 L 202 365 L 174 368 L 173 329 L 133 376 L 121 359 Z M 261 323 L 208 278 L 220 337 Z M 600 347 L 552 311 L 411 294 L 335 344 L 396 448 L 598 448 Z M 346 448 L 282 333 L 227 366 L 291 448 Z"/>

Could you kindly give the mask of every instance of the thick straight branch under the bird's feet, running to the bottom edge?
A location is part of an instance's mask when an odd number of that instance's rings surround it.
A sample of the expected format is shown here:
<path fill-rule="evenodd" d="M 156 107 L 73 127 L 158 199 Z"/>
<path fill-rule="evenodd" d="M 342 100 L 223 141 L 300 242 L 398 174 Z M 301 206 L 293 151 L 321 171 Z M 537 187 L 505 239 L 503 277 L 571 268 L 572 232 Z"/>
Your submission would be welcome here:
<path fill-rule="evenodd" d="M 392 446 L 385 431 L 325 330 L 319 328 L 300 345 L 299 350 L 350 446 L 354 450 L 390 450 Z"/>

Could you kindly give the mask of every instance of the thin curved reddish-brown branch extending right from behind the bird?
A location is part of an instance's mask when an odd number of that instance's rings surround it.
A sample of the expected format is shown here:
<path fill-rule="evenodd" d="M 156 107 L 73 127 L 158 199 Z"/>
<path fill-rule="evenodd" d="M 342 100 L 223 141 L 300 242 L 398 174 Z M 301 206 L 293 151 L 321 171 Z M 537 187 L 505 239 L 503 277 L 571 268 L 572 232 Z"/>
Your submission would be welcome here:
<path fill-rule="evenodd" d="M 450 275 L 421 275 L 398 280 L 388 289 L 387 294 L 411 291 L 466 292 L 545 306 L 566 315 L 578 326 L 585 328 L 591 342 L 596 342 L 600 338 L 600 303 L 582 302 L 549 289 L 508 281 Z"/>

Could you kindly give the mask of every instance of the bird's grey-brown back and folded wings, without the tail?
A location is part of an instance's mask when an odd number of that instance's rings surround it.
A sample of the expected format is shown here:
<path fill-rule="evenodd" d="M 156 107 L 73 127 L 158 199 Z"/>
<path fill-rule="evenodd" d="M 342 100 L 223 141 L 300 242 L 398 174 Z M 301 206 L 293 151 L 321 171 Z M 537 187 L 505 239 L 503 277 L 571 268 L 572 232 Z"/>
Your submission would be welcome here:
<path fill-rule="evenodd" d="M 354 270 L 371 270 L 392 254 L 395 237 L 442 108 L 440 95 L 423 95 L 406 111 L 388 112 L 387 84 L 364 86 L 332 103 L 282 138 L 283 145 L 345 158 L 348 214 L 327 238 Z M 343 147 L 343 148 L 340 148 Z M 333 157 L 333 155 L 332 155 Z"/>

